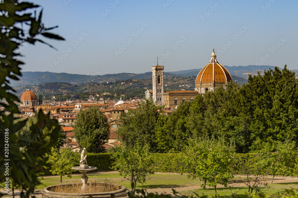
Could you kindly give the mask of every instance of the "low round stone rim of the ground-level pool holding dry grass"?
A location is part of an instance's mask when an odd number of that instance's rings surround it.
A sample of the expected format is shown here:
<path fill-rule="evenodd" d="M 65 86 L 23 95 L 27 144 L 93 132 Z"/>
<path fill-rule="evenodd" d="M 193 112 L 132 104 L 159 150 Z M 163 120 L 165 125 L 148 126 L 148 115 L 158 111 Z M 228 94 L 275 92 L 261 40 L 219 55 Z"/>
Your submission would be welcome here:
<path fill-rule="evenodd" d="M 104 184 L 104 183 L 101 183 Z M 72 185 L 72 183 L 64 183 L 64 184 L 56 184 L 52 186 L 47 186 L 44 188 L 44 190 L 41 193 L 42 198 L 114 198 L 114 197 L 128 197 L 126 195 L 126 188 L 125 186 L 119 185 L 120 189 L 116 191 L 111 191 L 111 192 L 99 192 L 99 193 L 61 193 L 61 192 L 53 192 L 50 191 L 51 188 L 55 186 L 60 186 L 60 185 Z M 117 185 L 117 184 L 115 184 Z"/>

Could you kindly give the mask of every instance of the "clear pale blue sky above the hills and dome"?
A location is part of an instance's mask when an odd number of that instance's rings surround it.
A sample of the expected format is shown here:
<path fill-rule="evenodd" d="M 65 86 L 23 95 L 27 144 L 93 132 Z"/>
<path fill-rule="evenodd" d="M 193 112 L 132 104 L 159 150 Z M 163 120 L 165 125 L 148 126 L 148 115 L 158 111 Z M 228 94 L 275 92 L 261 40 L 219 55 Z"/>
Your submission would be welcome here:
<path fill-rule="evenodd" d="M 34 0 L 46 27 L 66 41 L 21 46 L 22 72 L 83 75 L 227 66 L 298 69 L 297 0 Z M 41 10 L 39 8 L 38 10 Z"/>

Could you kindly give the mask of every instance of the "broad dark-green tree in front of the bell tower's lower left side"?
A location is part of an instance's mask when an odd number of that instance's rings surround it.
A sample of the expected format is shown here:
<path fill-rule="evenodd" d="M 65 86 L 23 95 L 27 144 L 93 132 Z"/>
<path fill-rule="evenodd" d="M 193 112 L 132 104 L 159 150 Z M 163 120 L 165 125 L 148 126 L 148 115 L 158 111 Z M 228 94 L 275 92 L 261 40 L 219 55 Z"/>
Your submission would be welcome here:
<path fill-rule="evenodd" d="M 126 145 L 148 144 L 150 152 L 155 152 L 155 125 L 159 117 L 158 109 L 151 100 L 139 103 L 137 110 L 121 113 L 117 134 Z"/>

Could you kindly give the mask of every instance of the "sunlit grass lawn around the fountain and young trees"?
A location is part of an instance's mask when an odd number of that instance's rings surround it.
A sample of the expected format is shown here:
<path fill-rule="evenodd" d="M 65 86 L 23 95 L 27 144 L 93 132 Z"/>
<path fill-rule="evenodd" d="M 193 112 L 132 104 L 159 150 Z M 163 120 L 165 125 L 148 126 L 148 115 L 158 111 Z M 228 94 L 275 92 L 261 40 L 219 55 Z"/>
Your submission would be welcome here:
<path fill-rule="evenodd" d="M 74 176 L 72 178 L 63 177 L 62 183 L 76 183 L 81 182 L 80 179 L 81 176 Z M 105 180 L 112 180 L 115 183 L 119 183 L 120 185 L 125 186 L 127 189 L 131 189 L 130 182 L 128 180 L 124 180 L 122 176 L 119 176 L 119 173 L 109 173 L 109 174 L 94 174 L 94 175 L 88 175 L 89 180 L 91 181 L 97 181 L 97 182 L 104 182 Z M 193 186 L 198 185 L 197 190 L 190 190 L 190 191 L 180 191 L 180 194 L 194 197 L 195 194 L 201 195 L 207 195 L 208 197 L 214 197 L 214 188 L 208 188 L 208 189 L 201 189 L 199 184 L 202 181 L 199 181 L 198 179 L 188 179 L 186 175 L 170 175 L 170 174 L 154 174 L 150 176 L 151 179 L 148 180 L 144 185 L 138 185 L 138 189 L 150 189 L 150 188 L 176 188 L 181 186 Z M 232 181 L 236 182 L 239 179 L 234 178 Z M 268 178 L 268 181 L 270 178 Z M 55 178 L 44 178 L 44 180 L 41 181 L 42 184 L 38 185 L 38 190 L 44 189 L 46 186 L 59 184 L 60 177 Z M 270 183 L 270 182 L 269 182 Z M 297 188 L 298 183 L 279 183 L 279 184 L 271 184 L 269 185 L 270 188 L 266 190 L 268 193 L 275 193 L 278 191 L 282 191 L 285 188 Z M 231 188 L 217 188 L 217 194 L 218 196 L 222 197 L 232 197 L 232 193 L 237 194 L 235 197 L 247 197 L 246 192 L 248 191 L 248 187 L 231 187 Z"/>

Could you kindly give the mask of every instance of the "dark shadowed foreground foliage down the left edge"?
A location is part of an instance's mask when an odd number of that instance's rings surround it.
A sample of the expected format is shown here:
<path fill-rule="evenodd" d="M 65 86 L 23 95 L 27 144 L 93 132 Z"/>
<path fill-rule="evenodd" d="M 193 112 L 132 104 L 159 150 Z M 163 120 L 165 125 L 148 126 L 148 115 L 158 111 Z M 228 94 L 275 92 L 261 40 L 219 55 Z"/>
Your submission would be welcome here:
<path fill-rule="evenodd" d="M 45 28 L 41 20 L 42 10 L 39 16 L 36 15 L 36 10 L 35 12 L 30 11 L 30 9 L 38 7 L 38 5 L 26 1 L 0 1 L 0 99 L 7 101 L 7 104 L 0 103 L 4 107 L 3 110 L 0 110 L 0 137 L 6 141 L 5 144 L 0 144 L 2 153 L 0 156 L 0 182 L 6 180 L 3 170 L 5 164 L 9 163 L 10 177 L 15 184 L 22 186 L 21 197 L 29 197 L 34 187 L 39 184 L 36 175 L 38 170 L 35 169 L 35 165 L 38 163 L 46 166 L 44 153 L 57 142 L 60 131 L 57 121 L 50 119 L 50 115 L 44 115 L 42 111 L 38 112 L 38 122 L 30 127 L 30 137 L 16 135 L 16 132 L 26 124 L 26 120 L 16 125 L 13 124 L 17 119 L 14 114 L 20 113 L 15 101 L 20 101 L 13 94 L 14 90 L 11 88 L 9 80 L 19 80 L 18 75 L 21 76 L 19 66 L 24 64 L 17 59 L 21 56 L 17 51 L 18 47 L 24 42 L 30 44 L 41 42 L 53 47 L 43 40 L 37 39 L 36 36 L 40 34 L 51 39 L 64 40 L 64 38 L 48 32 L 58 26 Z M 51 133 L 44 135 L 42 130 L 45 128 Z M 49 142 L 45 140 L 46 137 L 49 137 Z M 9 147 L 9 153 L 4 156 L 5 147 Z M 25 149 L 20 151 L 21 147 Z M 10 161 L 6 161 L 7 159 Z M 27 193 L 25 194 L 24 191 Z"/>

